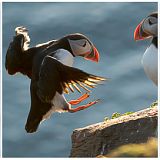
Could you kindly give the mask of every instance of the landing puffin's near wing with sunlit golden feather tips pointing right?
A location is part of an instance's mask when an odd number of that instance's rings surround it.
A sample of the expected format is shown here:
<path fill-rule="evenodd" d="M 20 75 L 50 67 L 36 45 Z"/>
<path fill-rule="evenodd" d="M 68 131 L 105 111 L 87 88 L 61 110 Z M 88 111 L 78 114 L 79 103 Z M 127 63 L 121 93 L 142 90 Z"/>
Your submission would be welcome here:
<path fill-rule="evenodd" d="M 42 62 L 37 94 L 42 101 L 50 102 L 56 91 L 60 94 L 74 92 L 80 88 L 90 92 L 99 82 L 106 80 L 103 77 L 86 73 L 80 69 L 66 66 L 51 56 L 46 56 Z"/>

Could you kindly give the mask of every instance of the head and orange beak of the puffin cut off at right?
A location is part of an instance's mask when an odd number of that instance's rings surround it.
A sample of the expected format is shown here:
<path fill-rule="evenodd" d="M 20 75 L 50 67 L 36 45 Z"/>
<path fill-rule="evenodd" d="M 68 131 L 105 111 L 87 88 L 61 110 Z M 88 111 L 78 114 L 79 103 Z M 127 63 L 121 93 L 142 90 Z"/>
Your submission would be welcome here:
<path fill-rule="evenodd" d="M 136 27 L 134 31 L 135 40 L 143 40 L 156 37 L 158 33 L 158 13 L 153 12 Z"/>

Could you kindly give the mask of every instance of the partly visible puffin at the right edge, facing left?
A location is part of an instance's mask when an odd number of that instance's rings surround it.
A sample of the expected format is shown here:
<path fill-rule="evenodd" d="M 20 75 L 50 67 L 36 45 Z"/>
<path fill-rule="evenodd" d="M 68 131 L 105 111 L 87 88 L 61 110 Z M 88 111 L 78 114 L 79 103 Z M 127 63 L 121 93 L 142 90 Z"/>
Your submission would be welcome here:
<path fill-rule="evenodd" d="M 158 85 L 158 13 L 154 12 L 147 16 L 136 27 L 134 32 L 135 40 L 152 38 L 150 46 L 146 49 L 142 64 L 146 75 Z"/>

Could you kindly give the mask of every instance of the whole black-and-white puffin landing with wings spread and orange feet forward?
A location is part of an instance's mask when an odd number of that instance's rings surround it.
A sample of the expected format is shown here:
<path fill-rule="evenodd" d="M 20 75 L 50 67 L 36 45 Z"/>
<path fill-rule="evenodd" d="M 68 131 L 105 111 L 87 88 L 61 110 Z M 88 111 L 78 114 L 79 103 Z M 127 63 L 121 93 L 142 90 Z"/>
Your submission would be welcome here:
<path fill-rule="evenodd" d="M 49 118 L 53 112 L 77 112 L 98 102 L 72 108 L 89 97 L 89 88 L 106 80 L 103 77 L 86 73 L 72 67 L 76 56 L 98 62 L 99 53 L 93 43 L 83 34 L 66 35 L 29 48 L 28 30 L 21 26 L 15 29 L 16 35 L 6 54 L 5 67 L 10 75 L 17 72 L 31 79 L 31 108 L 25 129 L 36 132 L 39 124 Z M 87 92 L 76 100 L 67 102 L 64 93 L 80 88 Z"/>

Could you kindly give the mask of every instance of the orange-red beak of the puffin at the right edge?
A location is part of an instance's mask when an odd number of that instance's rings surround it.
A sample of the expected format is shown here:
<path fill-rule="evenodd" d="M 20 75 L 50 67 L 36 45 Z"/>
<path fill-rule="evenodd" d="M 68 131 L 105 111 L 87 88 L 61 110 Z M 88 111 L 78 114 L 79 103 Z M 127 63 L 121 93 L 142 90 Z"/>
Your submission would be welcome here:
<path fill-rule="evenodd" d="M 134 40 L 143 40 L 145 38 L 148 38 L 150 35 L 144 32 L 142 25 L 144 20 L 136 27 L 134 31 Z"/>

